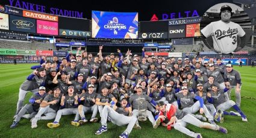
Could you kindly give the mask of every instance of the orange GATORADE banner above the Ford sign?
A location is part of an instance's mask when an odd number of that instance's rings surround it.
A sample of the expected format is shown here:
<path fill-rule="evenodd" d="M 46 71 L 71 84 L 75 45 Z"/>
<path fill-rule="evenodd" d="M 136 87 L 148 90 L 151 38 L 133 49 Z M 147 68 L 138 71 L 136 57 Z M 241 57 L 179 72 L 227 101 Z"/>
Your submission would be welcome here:
<path fill-rule="evenodd" d="M 30 18 L 34 18 L 34 19 L 58 22 L 58 16 L 52 16 L 50 14 L 43 14 L 43 13 L 36 13 L 36 12 L 32 12 L 32 11 L 23 10 L 23 17 L 30 17 Z"/>

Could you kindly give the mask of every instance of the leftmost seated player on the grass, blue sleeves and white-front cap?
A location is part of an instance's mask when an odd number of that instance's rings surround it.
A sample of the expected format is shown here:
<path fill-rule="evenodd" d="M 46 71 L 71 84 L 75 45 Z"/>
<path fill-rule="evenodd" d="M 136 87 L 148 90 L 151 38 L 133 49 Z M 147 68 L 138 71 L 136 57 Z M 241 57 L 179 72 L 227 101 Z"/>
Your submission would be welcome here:
<path fill-rule="evenodd" d="M 43 98 L 45 98 L 46 95 L 47 94 L 45 92 L 45 87 L 40 86 L 39 92 L 37 92 L 30 98 L 29 100 L 30 103 L 26 104 L 25 106 L 22 107 L 22 109 L 20 109 L 19 113 L 17 114 L 10 128 L 16 127 L 17 124 L 19 124 L 20 118 L 23 115 L 25 115 L 26 112 L 30 114 L 30 118 L 31 116 L 34 116 L 38 112 L 40 103 L 43 101 Z"/>

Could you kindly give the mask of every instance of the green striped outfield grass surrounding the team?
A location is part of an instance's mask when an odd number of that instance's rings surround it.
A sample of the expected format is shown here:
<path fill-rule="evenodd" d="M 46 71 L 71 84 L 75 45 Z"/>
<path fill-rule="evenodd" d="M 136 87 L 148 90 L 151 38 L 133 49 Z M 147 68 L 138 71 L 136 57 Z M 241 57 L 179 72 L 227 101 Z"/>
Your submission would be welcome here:
<path fill-rule="evenodd" d="M 86 125 L 75 127 L 70 124 L 75 116 L 63 116 L 60 120 L 60 127 L 50 129 L 46 126 L 49 121 L 39 121 L 36 129 L 31 129 L 31 123 L 28 119 L 22 119 L 19 125 L 11 129 L 13 115 L 16 111 L 16 102 L 19 94 L 19 86 L 32 73 L 30 67 L 36 64 L 0 64 L 0 137 L 118 137 L 126 126 L 117 127 L 108 122 L 108 131 L 96 136 L 94 133 L 101 124 L 88 123 Z M 242 74 L 242 97 L 256 98 L 256 68 L 243 66 L 234 67 Z M 232 92 L 234 100 L 234 91 Z M 26 96 L 25 103 L 31 93 Z M 190 130 L 201 133 L 203 137 L 255 137 L 256 131 L 256 100 L 251 98 L 242 98 L 241 108 L 248 117 L 248 122 L 242 122 L 237 116 L 225 116 L 223 124 L 219 124 L 228 129 L 228 134 L 218 133 L 217 131 L 205 130 L 189 125 Z M 88 119 L 90 115 L 87 116 Z M 130 137 L 188 137 L 174 129 L 168 131 L 165 127 L 152 128 L 149 121 L 140 122 L 142 130 L 133 130 Z"/>

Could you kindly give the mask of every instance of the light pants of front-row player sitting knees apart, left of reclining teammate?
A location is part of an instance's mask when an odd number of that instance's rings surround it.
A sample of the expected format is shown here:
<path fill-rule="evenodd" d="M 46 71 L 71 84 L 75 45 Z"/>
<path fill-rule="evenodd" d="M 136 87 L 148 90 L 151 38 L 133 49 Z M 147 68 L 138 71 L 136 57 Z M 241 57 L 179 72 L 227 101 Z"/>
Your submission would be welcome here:
<path fill-rule="evenodd" d="M 86 116 L 84 113 L 91 112 L 92 118 L 95 118 L 95 116 L 98 113 L 98 105 L 94 104 L 92 107 L 86 107 L 83 105 L 78 106 L 78 113 L 81 116 L 81 118 L 85 118 Z"/>

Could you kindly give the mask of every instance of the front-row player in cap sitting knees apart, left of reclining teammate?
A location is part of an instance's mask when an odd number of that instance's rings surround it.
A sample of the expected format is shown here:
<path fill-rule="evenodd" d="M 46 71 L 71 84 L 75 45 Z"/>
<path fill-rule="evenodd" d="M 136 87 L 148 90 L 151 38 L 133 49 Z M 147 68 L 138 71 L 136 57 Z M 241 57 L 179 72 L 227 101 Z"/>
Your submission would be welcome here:
<path fill-rule="evenodd" d="M 92 117 L 90 119 L 90 122 L 97 122 L 98 118 L 95 118 L 95 116 L 98 113 L 98 105 L 95 104 L 95 99 L 97 97 L 96 92 L 94 92 L 94 85 L 88 86 L 88 91 L 84 92 L 80 95 L 80 98 L 78 98 L 78 101 L 80 105 L 78 106 L 78 112 L 81 116 L 81 120 L 79 121 L 80 124 L 84 124 L 87 121 L 86 116 L 84 113 L 92 112 Z"/>

